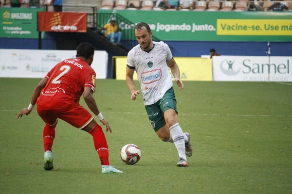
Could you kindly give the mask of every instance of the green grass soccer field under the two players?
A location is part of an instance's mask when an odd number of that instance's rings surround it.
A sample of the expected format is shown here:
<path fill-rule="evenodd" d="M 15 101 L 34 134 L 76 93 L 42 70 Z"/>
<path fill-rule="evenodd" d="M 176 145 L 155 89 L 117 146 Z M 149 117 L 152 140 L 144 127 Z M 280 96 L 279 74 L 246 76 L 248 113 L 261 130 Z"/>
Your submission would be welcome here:
<path fill-rule="evenodd" d="M 0 79 L 0 194 L 291 194 L 292 85 L 273 82 L 184 82 L 179 123 L 192 134 L 189 167 L 154 133 L 142 96 L 125 81 L 98 80 L 94 97 L 113 133 L 102 175 L 91 135 L 59 121 L 54 171 L 42 167 L 44 123 L 37 112 L 16 120 L 39 79 Z M 81 104 L 85 106 L 83 99 Z M 35 109 L 36 110 L 36 109 Z M 141 160 L 126 165 L 120 149 L 136 144 Z"/>

